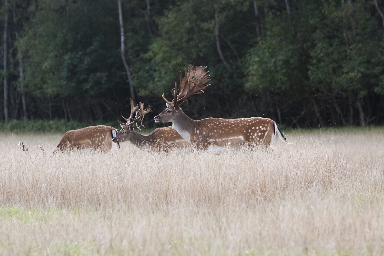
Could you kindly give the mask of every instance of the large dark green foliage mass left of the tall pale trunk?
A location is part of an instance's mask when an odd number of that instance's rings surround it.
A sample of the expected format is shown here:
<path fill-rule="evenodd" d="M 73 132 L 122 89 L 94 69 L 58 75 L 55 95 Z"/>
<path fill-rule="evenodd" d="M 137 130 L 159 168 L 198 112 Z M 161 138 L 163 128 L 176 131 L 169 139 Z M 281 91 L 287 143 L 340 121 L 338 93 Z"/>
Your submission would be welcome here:
<path fill-rule="evenodd" d="M 111 40 L 111 27 L 106 27 L 111 13 L 100 10 L 104 2 L 39 2 L 36 17 L 18 42 L 19 54 L 26 56 L 24 85 L 30 93 L 97 96 L 116 83 L 121 59 L 116 47 L 110 47 L 119 42 L 118 26 L 112 27 L 116 38 Z"/>

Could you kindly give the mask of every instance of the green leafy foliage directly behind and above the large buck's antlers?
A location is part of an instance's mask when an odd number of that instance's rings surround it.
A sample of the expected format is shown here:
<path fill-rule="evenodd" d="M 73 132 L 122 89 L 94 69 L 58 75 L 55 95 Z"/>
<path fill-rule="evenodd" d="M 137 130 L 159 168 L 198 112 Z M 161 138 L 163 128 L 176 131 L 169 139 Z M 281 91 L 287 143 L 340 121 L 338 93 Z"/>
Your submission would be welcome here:
<path fill-rule="evenodd" d="M 155 80 L 148 86 L 149 91 L 161 94 L 170 91 L 172 83 L 177 81 L 178 72 L 192 65 L 206 65 L 207 49 L 214 47 L 210 38 L 212 28 L 207 22 L 205 12 L 197 13 L 198 2 L 184 2 L 170 8 L 163 17 L 159 17 L 159 31 L 162 36 L 149 46 L 147 58 L 154 63 Z M 205 40 L 203 40 L 205 39 Z M 188 64 L 186 64 L 188 63 Z"/>

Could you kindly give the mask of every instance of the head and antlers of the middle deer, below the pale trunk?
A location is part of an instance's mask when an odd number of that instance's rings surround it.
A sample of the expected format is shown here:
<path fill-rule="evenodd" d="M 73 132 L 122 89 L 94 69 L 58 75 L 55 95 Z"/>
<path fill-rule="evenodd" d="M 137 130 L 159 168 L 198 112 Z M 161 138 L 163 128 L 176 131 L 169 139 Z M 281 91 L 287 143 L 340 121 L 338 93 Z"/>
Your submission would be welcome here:
<path fill-rule="evenodd" d="M 127 123 L 122 123 L 121 121 L 119 121 L 122 129 L 120 130 L 118 135 L 116 135 L 113 138 L 112 141 L 114 143 L 124 142 L 124 141 L 129 140 L 132 136 L 132 133 L 135 132 L 133 125 L 136 124 L 137 129 L 141 130 L 141 127 L 143 126 L 142 125 L 142 119 L 144 118 L 144 116 L 147 113 L 152 112 L 151 106 L 149 106 L 149 105 L 144 110 L 144 104 L 143 103 L 140 102 L 139 104 L 134 106 L 133 100 L 129 99 L 129 101 L 131 103 L 131 116 L 129 116 L 129 118 L 125 118 L 124 116 L 121 116 L 122 118 L 124 118 L 124 120 L 126 120 Z M 136 116 L 135 116 L 135 118 L 133 118 L 133 115 L 135 114 L 135 112 L 136 112 Z M 132 121 L 130 122 L 130 120 L 132 120 Z"/>

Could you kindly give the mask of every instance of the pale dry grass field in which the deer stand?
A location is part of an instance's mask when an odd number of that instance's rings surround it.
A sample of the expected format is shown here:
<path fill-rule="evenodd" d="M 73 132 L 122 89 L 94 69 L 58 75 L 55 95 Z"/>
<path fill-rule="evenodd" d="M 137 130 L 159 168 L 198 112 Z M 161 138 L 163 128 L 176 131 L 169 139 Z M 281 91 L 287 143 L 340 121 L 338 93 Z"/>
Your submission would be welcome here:
<path fill-rule="evenodd" d="M 285 134 L 167 155 L 0 134 L 0 255 L 383 255 L 384 129 Z"/>

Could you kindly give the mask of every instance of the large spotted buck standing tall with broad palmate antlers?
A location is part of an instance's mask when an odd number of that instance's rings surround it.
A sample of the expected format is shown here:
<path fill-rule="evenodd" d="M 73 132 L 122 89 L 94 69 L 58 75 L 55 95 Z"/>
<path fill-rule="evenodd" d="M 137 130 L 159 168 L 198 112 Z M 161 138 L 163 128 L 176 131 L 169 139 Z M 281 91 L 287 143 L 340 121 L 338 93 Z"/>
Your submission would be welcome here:
<path fill-rule="evenodd" d="M 155 116 L 155 122 L 172 122 L 174 128 L 185 140 L 189 141 L 199 150 L 213 148 L 223 148 L 225 146 L 249 146 L 253 148 L 260 146 L 269 148 L 276 133 L 281 140 L 286 142 L 286 138 L 277 127 L 275 121 L 269 118 L 250 117 L 238 119 L 205 118 L 202 120 L 192 120 L 180 108 L 180 105 L 187 98 L 194 94 L 204 93 L 204 89 L 209 85 L 209 71 L 205 72 L 205 67 L 189 65 L 185 76 L 180 72 L 180 91 L 177 95 L 177 84 L 172 90 L 174 99 L 168 101 L 163 93 L 163 98 L 167 103 L 167 108 L 159 115 Z"/>

